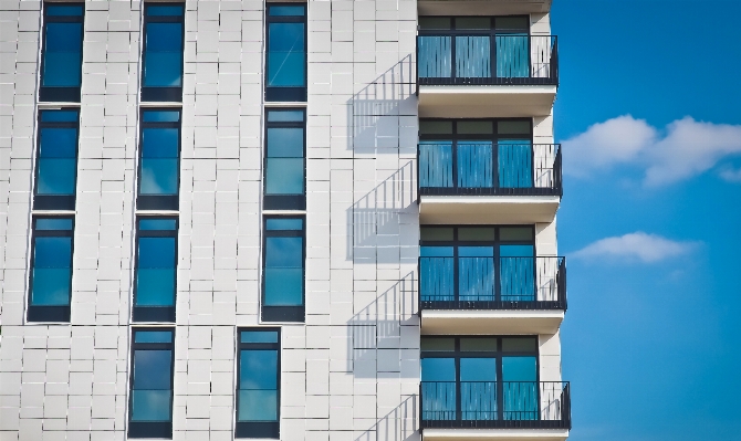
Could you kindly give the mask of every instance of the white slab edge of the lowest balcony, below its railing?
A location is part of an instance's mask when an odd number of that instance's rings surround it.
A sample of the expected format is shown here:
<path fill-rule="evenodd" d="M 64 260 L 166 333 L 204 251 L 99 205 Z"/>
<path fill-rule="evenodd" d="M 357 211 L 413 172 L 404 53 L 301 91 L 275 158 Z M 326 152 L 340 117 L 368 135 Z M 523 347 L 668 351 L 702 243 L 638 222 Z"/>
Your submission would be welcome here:
<path fill-rule="evenodd" d="M 422 441 L 564 441 L 567 429 L 422 429 Z"/>

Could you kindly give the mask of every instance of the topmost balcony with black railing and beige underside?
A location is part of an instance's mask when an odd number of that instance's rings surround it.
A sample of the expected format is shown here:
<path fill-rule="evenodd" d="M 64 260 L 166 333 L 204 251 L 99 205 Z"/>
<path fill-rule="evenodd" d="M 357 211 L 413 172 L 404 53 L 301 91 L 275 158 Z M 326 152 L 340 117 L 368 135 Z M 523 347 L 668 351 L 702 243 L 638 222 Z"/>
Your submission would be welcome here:
<path fill-rule="evenodd" d="M 550 115 L 559 86 L 554 35 L 420 31 L 420 117 Z"/>

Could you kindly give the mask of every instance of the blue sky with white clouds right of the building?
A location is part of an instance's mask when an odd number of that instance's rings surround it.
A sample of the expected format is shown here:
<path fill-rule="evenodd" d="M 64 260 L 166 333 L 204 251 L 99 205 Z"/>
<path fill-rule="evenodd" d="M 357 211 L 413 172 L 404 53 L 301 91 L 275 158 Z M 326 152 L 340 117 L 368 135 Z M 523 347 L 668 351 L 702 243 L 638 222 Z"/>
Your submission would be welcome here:
<path fill-rule="evenodd" d="M 553 1 L 572 441 L 741 440 L 739 18 Z"/>

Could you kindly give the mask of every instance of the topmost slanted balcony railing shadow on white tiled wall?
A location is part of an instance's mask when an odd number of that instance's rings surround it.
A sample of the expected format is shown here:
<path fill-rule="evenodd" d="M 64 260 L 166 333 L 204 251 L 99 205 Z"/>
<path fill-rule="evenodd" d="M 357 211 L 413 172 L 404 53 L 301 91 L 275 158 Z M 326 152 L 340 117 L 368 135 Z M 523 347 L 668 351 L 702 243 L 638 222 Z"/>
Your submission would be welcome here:
<path fill-rule="evenodd" d="M 417 116 L 415 74 L 408 54 L 353 95 L 347 102 L 348 149 L 395 154 L 399 146 L 416 146 L 416 123 L 411 123 Z"/>

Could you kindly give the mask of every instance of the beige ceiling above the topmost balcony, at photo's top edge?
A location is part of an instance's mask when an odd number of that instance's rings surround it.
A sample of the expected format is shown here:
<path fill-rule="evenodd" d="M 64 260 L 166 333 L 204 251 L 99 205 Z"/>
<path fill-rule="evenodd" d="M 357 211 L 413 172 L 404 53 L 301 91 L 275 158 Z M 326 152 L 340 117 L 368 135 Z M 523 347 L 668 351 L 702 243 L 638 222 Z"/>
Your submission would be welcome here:
<path fill-rule="evenodd" d="M 552 0 L 419 0 L 420 15 L 509 15 L 546 13 Z"/>

